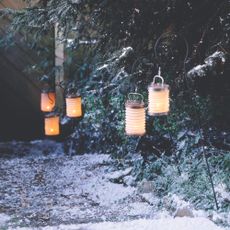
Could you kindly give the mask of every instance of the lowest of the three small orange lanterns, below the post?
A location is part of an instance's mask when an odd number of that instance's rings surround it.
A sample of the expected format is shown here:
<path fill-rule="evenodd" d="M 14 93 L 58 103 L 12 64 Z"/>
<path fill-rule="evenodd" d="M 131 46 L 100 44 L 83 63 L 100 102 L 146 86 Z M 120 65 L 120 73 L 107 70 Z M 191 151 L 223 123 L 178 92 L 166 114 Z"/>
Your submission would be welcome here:
<path fill-rule="evenodd" d="M 60 118 L 57 114 L 48 114 L 45 117 L 45 135 L 57 136 L 60 134 Z"/>

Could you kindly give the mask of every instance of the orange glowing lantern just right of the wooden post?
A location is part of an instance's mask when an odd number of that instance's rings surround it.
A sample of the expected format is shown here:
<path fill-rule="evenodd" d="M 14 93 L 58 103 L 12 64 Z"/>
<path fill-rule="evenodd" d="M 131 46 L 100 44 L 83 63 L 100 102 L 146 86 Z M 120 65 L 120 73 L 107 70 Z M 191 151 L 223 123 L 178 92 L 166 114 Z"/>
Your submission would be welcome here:
<path fill-rule="evenodd" d="M 66 98 L 66 115 L 72 118 L 82 116 L 82 103 L 80 96 L 68 96 Z"/>

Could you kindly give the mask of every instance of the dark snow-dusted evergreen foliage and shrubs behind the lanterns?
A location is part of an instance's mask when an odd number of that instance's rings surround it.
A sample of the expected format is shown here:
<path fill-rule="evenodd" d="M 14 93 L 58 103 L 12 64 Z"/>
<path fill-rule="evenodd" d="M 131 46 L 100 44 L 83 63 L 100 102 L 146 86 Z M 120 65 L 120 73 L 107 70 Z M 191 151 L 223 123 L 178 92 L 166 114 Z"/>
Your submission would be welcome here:
<path fill-rule="evenodd" d="M 134 166 L 136 180 L 155 180 L 159 193 L 177 184 L 190 198 L 195 189 L 194 202 L 202 205 L 200 189 L 211 193 L 206 177 L 198 177 L 205 148 L 211 170 L 220 172 L 216 181 L 222 177 L 229 189 L 229 0 L 47 0 L 1 14 L 12 20 L 1 44 L 24 34 L 43 58 L 34 70 L 41 76 L 53 76 L 53 50 L 43 44 L 59 23 L 67 44 L 65 73 L 84 100 L 84 119 L 76 130 L 63 125 L 66 136 L 72 133 L 71 151 L 110 153 L 118 167 Z M 170 115 L 147 117 L 147 135 L 129 138 L 124 135 L 126 95 L 137 88 L 147 103 L 147 86 L 159 66 L 171 87 Z M 67 149 L 71 141 L 68 136 Z M 130 163 L 137 152 L 142 159 Z M 190 173 L 190 183 L 175 182 L 183 172 Z"/>

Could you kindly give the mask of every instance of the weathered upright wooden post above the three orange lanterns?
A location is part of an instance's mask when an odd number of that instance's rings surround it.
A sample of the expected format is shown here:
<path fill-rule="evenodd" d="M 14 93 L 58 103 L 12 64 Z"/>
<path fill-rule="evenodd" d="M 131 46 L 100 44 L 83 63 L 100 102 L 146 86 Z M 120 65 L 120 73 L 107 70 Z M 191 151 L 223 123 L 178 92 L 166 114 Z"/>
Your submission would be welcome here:
<path fill-rule="evenodd" d="M 65 80 L 64 77 L 64 43 L 62 41 L 62 32 L 58 28 L 58 24 L 55 24 L 55 85 L 56 85 L 56 106 L 59 110 L 63 108 L 64 105 L 64 90 L 60 87 L 60 83 Z"/>

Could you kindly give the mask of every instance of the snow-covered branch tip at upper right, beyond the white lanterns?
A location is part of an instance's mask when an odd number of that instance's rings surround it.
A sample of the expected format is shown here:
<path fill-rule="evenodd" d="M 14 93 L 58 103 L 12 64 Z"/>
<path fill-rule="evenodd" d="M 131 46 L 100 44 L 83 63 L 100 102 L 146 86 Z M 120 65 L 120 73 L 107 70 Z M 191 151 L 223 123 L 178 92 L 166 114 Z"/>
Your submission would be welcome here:
<path fill-rule="evenodd" d="M 208 71 L 214 70 L 220 64 L 223 65 L 226 62 L 226 55 L 222 51 L 216 51 L 204 60 L 203 65 L 197 65 L 192 68 L 187 76 L 190 78 L 204 77 Z"/>

